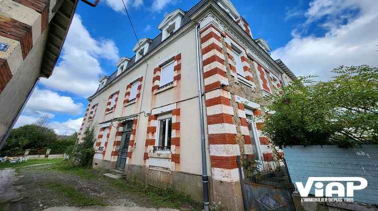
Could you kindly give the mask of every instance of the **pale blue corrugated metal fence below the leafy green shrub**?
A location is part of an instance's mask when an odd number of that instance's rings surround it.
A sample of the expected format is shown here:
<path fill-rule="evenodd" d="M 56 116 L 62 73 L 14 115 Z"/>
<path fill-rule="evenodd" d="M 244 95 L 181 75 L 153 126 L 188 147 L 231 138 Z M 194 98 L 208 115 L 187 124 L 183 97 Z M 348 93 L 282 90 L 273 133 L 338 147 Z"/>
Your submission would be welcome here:
<path fill-rule="evenodd" d="M 362 177 L 367 187 L 354 191 L 354 201 L 378 204 L 378 145 L 342 149 L 337 146 L 283 147 L 292 183 L 308 177 Z M 323 182 L 326 187 L 327 182 Z M 346 187 L 346 182 L 340 182 Z M 359 185 L 359 182 L 354 184 Z M 310 194 L 314 194 L 312 184 Z M 333 195 L 336 196 L 336 195 Z"/>

